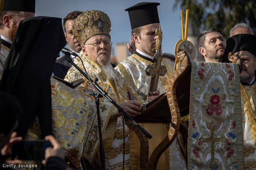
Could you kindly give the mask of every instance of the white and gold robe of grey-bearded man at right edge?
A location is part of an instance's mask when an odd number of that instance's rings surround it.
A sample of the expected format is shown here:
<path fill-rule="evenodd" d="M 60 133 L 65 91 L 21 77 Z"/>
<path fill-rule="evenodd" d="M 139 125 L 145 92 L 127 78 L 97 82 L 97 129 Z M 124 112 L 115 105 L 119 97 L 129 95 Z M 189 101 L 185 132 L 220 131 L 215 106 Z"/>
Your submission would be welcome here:
<path fill-rule="evenodd" d="M 242 86 L 242 126 L 244 134 L 244 169 L 256 169 L 256 83 Z"/>

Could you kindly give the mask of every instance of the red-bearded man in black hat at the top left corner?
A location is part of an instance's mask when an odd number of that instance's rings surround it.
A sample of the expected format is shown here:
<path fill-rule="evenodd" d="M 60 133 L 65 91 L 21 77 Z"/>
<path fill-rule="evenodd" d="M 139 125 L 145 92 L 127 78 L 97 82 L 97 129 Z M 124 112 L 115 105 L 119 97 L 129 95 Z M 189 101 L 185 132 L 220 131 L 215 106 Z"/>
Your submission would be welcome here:
<path fill-rule="evenodd" d="M 0 78 L 20 21 L 35 16 L 35 0 L 5 0 L 0 16 Z"/>

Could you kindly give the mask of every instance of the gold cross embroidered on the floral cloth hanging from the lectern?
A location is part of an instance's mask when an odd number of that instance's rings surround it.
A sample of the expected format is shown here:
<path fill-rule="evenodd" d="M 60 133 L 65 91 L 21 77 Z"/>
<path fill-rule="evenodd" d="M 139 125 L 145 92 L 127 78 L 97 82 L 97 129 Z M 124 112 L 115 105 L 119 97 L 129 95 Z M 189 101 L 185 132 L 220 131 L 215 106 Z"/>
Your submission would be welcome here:
<path fill-rule="evenodd" d="M 211 143 L 211 162 L 210 162 L 210 164 L 212 165 L 212 166 L 215 166 L 216 165 L 216 161 L 215 161 L 215 156 L 214 156 L 214 142 L 226 142 L 226 138 L 224 137 L 224 136 L 222 136 L 222 137 L 214 137 L 214 127 L 215 127 L 216 125 L 213 123 L 213 121 L 212 121 L 212 123 L 210 124 L 210 127 L 211 127 L 211 137 L 210 138 L 204 138 L 204 137 L 200 137 L 200 139 L 199 139 L 199 141 L 201 142 L 201 143 L 204 143 L 204 142 L 210 142 Z"/>

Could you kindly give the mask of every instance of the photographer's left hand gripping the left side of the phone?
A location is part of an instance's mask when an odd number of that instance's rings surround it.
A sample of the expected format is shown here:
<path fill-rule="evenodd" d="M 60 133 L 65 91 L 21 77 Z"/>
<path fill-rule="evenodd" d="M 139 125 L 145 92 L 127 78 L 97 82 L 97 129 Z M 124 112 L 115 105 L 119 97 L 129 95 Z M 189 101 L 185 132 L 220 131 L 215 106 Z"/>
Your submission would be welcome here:
<path fill-rule="evenodd" d="M 17 137 L 17 132 L 13 132 L 9 142 L 4 145 L 4 147 L 1 149 L 1 154 L 2 155 L 6 155 L 6 154 L 11 154 L 12 153 L 12 147 L 15 143 L 21 142 L 22 141 L 22 137 Z M 10 158 L 7 158 L 5 160 L 6 164 L 22 164 L 22 160 L 10 160 Z"/>

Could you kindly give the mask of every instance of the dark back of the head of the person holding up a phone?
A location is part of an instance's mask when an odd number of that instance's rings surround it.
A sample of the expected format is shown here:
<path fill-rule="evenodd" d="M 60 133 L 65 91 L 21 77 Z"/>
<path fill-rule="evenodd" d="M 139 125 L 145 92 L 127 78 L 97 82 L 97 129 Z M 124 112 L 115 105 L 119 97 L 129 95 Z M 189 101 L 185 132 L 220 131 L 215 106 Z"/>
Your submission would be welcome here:
<path fill-rule="evenodd" d="M 6 92 L 0 92 L 0 133 L 8 135 L 22 114 L 17 98 Z"/>

